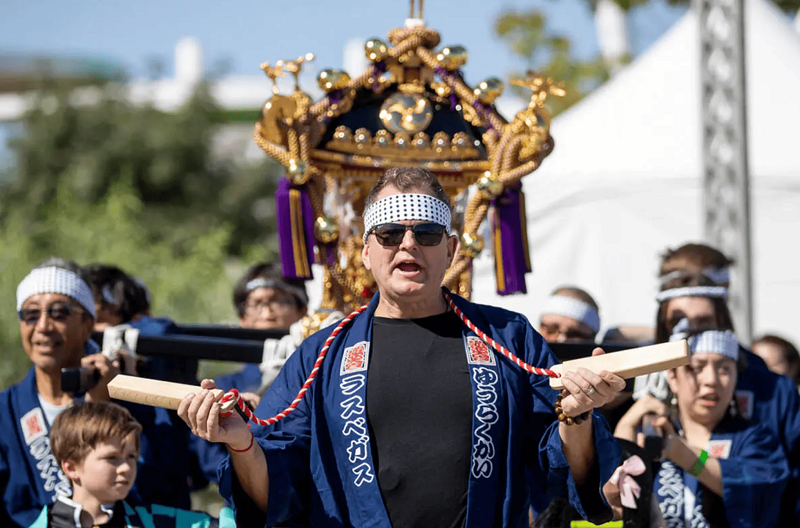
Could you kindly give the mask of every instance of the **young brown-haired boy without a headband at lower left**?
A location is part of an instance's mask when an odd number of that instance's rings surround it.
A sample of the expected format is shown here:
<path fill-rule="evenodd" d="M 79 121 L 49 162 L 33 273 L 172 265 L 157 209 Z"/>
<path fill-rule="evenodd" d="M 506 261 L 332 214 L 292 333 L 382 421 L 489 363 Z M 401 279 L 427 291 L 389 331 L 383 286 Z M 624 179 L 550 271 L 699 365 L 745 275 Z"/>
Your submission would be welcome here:
<path fill-rule="evenodd" d="M 125 497 L 136 480 L 142 426 L 127 409 L 86 402 L 53 422 L 53 456 L 72 484 L 72 497 L 58 496 L 30 528 L 217 528 L 235 526 L 232 512 L 218 521 L 208 514 L 166 506 L 132 508 Z"/>

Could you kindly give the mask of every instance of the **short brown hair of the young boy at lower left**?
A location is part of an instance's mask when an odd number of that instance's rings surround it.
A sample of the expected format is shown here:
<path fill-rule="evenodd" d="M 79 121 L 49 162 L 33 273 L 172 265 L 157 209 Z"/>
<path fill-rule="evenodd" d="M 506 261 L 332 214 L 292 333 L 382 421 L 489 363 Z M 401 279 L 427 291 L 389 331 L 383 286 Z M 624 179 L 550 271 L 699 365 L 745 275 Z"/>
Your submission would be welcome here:
<path fill-rule="evenodd" d="M 75 464 L 102 442 L 114 438 L 130 439 L 141 449 L 142 426 L 128 409 L 111 402 L 86 402 L 66 409 L 50 429 L 50 449 L 59 465 L 64 460 Z"/>

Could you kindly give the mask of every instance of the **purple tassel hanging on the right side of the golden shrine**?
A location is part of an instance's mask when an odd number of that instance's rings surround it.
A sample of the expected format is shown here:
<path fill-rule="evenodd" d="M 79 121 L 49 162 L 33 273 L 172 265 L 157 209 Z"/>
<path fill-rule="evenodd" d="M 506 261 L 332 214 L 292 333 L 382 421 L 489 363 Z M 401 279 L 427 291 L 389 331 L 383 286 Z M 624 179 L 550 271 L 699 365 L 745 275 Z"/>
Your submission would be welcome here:
<path fill-rule="evenodd" d="M 525 274 L 530 273 L 531 264 L 522 183 L 506 187 L 503 194 L 492 201 L 492 205 L 497 293 L 527 293 Z"/>

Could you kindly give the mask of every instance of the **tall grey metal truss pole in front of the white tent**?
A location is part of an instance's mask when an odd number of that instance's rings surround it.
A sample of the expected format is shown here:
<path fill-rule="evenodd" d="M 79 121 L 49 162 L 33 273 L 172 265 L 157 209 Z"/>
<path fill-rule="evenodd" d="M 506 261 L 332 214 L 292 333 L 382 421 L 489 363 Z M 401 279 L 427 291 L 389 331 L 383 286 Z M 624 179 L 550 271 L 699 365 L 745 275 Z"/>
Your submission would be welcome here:
<path fill-rule="evenodd" d="M 736 332 L 753 331 L 747 165 L 744 0 L 694 0 L 700 23 L 706 241 L 732 257 L 728 305 Z"/>

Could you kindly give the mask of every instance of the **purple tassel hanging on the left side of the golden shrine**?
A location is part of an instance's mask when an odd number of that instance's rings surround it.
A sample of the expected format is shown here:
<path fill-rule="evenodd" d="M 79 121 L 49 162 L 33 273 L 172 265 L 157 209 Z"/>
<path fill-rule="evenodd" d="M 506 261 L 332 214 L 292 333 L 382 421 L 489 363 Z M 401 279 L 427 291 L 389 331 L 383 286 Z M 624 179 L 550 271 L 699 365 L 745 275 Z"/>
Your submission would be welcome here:
<path fill-rule="evenodd" d="M 281 178 L 275 202 L 283 276 L 310 280 L 314 262 L 314 209 L 311 201 L 303 187 Z"/>

